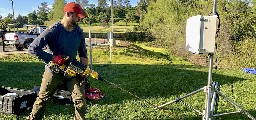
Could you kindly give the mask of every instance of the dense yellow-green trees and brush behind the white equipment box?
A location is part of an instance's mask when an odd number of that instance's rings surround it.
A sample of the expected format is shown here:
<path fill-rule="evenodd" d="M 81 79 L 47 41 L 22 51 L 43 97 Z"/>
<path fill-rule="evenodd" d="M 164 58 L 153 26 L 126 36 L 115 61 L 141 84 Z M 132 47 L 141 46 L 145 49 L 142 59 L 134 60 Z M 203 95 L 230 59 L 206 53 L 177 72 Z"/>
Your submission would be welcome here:
<path fill-rule="evenodd" d="M 144 17 L 141 24 L 134 29 L 150 32 L 155 41 L 149 45 L 167 48 L 175 56 L 193 64 L 208 66 L 208 54 L 195 55 L 185 50 L 186 19 L 196 15 L 209 16 L 212 4 L 212 1 L 204 0 L 151 1 L 146 14 L 140 16 Z M 228 69 L 256 67 L 255 5 L 255 0 L 229 0 L 225 4 L 224 1 L 217 1 L 221 28 L 216 35 L 214 66 Z"/>

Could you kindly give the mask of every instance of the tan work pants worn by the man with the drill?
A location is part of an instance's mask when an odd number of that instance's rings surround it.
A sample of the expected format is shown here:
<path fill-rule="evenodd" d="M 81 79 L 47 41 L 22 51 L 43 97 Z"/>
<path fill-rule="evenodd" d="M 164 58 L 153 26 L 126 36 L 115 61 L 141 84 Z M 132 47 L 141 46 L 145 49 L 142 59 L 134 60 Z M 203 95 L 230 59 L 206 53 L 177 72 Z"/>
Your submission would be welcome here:
<path fill-rule="evenodd" d="M 86 113 L 85 106 L 85 90 L 84 86 L 80 87 L 80 81 L 77 78 L 67 79 L 63 75 L 57 73 L 50 73 L 45 71 L 40 87 L 40 92 L 33 105 L 32 112 L 27 117 L 27 120 L 42 120 L 46 104 L 55 93 L 56 88 L 64 81 L 69 91 L 72 93 L 75 115 L 74 120 L 85 120 Z"/>

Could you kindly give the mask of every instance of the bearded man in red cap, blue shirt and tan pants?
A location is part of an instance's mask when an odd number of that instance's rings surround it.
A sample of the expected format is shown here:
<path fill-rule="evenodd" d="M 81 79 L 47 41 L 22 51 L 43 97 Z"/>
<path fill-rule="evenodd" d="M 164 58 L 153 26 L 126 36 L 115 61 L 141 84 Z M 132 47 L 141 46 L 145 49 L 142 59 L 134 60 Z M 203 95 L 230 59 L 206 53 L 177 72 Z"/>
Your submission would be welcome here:
<path fill-rule="evenodd" d="M 54 73 L 49 69 L 49 64 L 53 61 L 57 64 L 65 63 L 65 59 L 61 58 L 62 55 L 76 59 L 77 52 L 80 62 L 88 65 L 85 36 L 83 30 L 77 27 L 78 22 L 81 21 L 80 18 L 83 17 L 87 17 L 87 15 L 83 13 L 82 8 L 78 4 L 74 2 L 68 3 L 63 9 L 63 19 L 45 29 L 30 44 L 27 50 L 28 53 L 42 60 L 46 65 L 39 95 L 27 120 L 42 119 L 46 104 L 62 81 L 65 82 L 69 91 L 72 93 L 71 96 L 75 106 L 74 119 L 85 120 L 84 86 L 79 86 L 80 81 L 76 77 L 67 79 L 63 74 Z M 48 53 L 42 50 L 45 45 L 47 45 Z"/>

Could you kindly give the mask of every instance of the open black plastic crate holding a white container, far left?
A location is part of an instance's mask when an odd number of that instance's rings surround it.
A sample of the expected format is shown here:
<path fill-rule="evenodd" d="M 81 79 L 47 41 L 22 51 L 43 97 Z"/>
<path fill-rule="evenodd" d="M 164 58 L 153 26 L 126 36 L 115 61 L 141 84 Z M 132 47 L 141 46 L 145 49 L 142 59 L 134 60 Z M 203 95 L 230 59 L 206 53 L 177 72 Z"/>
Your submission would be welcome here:
<path fill-rule="evenodd" d="M 6 93 L 16 93 L 17 96 L 6 96 Z M 32 110 L 36 98 L 36 91 L 2 87 L 0 88 L 0 113 L 11 115 Z"/>

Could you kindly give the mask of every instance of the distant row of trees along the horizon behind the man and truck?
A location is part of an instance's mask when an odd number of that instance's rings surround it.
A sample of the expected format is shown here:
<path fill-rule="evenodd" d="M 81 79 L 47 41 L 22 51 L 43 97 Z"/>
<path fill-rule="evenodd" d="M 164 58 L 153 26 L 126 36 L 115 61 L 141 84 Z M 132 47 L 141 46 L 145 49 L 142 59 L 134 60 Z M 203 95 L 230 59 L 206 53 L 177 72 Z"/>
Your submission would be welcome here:
<path fill-rule="evenodd" d="M 115 19 L 123 18 L 123 22 L 141 22 L 146 13 L 146 7 L 151 1 L 155 0 L 140 0 L 137 2 L 137 6 L 132 7 L 129 0 L 117 0 L 113 1 L 113 17 Z M 89 4 L 87 0 L 75 0 L 79 4 L 84 13 L 88 15 L 87 18 L 81 19 L 81 22 L 88 24 L 88 19 L 91 23 L 98 22 L 99 26 L 104 28 L 108 27 L 108 24 L 111 24 L 111 5 L 109 6 L 106 3 L 106 0 L 98 0 L 98 6 L 95 4 Z M 41 6 L 38 6 L 37 11 L 28 13 L 27 16 L 21 16 L 20 14 L 15 19 L 15 23 L 18 24 L 39 24 L 43 25 L 44 21 L 61 20 L 63 17 L 63 8 L 67 4 L 65 0 L 54 0 L 54 3 L 51 8 L 47 6 L 47 2 L 41 3 Z M 96 20 L 97 19 L 97 20 Z M 114 23 L 116 20 L 114 19 Z M 2 19 L 0 16 L 0 25 L 7 26 L 7 24 L 13 24 L 13 15 L 8 14 L 5 18 Z"/>

